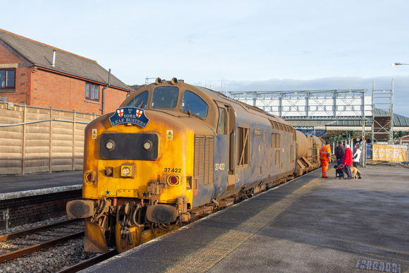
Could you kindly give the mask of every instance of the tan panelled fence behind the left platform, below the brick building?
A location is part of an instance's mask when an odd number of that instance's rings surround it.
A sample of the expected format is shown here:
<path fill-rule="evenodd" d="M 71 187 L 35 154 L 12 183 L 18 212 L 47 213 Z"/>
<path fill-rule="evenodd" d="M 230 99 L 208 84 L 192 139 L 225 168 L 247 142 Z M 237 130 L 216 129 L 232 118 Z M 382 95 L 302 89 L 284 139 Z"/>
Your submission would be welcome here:
<path fill-rule="evenodd" d="M 0 174 L 83 169 L 85 126 L 98 116 L 0 102 Z"/>

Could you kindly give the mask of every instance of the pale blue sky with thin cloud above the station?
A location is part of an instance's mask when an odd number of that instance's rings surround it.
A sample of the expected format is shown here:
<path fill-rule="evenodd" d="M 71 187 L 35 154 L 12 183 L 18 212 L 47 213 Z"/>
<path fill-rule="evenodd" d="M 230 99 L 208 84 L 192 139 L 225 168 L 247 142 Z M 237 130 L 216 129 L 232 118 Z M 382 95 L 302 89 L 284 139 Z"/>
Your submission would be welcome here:
<path fill-rule="evenodd" d="M 111 69 L 216 91 L 390 90 L 409 116 L 409 1 L 2 1 L 0 28 Z"/>

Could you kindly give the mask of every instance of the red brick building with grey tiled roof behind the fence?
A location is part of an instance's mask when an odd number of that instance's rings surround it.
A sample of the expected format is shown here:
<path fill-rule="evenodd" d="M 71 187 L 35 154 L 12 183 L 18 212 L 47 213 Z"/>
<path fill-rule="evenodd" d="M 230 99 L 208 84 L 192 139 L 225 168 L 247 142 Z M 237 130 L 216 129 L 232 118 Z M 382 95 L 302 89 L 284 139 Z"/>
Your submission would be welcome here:
<path fill-rule="evenodd" d="M 0 29 L 0 100 L 106 114 L 131 91 L 97 61 Z"/>

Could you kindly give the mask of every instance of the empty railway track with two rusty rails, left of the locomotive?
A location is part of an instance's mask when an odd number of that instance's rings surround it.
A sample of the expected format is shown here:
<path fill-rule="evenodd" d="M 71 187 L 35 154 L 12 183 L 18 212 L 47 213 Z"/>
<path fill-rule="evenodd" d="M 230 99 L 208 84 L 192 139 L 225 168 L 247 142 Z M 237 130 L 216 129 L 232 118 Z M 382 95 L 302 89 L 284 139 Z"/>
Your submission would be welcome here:
<path fill-rule="evenodd" d="M 0 255 L 0 262 L 30 255 L 44 248 L 51 248 L 55 245 L 84 236 L 83 227 L 78 227 L 77 224 L 81 222 L 81 220 L 82 219 L 71 219 L 0 236 L 0 251 L 2 253 Z M 68 227 L 74 224 L 77 224 L 76 228 Z"/>

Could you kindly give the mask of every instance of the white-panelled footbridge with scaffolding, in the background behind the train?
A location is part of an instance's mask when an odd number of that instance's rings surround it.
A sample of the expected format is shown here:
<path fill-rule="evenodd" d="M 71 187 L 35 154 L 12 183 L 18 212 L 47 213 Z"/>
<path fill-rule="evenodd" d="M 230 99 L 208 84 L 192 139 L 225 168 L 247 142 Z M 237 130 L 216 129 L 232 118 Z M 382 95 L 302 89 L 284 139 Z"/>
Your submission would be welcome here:
<path fill-rule="evenodd" d="M 369 93 L 369 94 L 368 94 Z M 281 116 L 296 129 L 326 140 L 399 142 L 409 119 L 393 113 L 390 90 L 297 90 L 227 92 L 229 97 Z"/>

